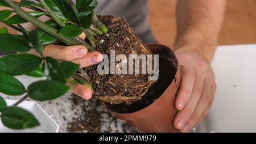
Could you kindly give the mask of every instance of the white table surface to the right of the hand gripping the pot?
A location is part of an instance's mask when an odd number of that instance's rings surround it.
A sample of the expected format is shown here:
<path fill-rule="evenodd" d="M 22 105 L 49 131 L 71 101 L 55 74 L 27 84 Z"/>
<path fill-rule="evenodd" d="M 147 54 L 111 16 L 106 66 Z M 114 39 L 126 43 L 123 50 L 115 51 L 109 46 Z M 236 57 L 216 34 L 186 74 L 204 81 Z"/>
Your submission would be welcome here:
<path fill-rule="evenodd" d="M 196 132 L 256 132 L 256 44 L 219 46 L 212 66 L 215 100 Z"/>

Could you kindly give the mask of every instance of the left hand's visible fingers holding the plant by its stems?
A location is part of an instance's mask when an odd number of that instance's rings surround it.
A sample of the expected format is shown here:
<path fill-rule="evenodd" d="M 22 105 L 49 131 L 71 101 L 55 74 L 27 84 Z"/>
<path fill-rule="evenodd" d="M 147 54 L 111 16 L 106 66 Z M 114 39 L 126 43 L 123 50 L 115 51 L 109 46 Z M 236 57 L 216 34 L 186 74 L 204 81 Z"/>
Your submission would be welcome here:
<path fill-rule="evenodd" d="M 79 36 L 85 39 L 84 33 Z M 30 52 L 36 54 L 34 52 Z M 95 65 L 103 61 L 103 56 L 100 52 L 88 52 L 88 49 L 84 45 L 74 46 L 62 46 L 62 45 L 46 45 L 43 49 L 43 55 L 45 57 L 52 57 L 57 60 L 72 61 L 80 65 L 81 68 L 90 65 Z M 73 92 L 81 98 L 86 100 L 92 98 L 92 90 L 82 84 L 67 83 L 71 87 L 70 92 Z"/>

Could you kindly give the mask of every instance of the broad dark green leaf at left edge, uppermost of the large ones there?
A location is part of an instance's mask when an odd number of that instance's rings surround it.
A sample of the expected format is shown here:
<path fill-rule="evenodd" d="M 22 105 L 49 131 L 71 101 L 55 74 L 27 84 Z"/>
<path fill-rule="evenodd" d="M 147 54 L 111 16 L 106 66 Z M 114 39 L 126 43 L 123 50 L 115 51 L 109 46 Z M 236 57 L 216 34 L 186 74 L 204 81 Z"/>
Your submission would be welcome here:
<path fill-rule="evenodd" d="M 31 49 L 30 40 L 22 35 L 0 34 L 0 51 L 5 52 L 27 52 Z"/>

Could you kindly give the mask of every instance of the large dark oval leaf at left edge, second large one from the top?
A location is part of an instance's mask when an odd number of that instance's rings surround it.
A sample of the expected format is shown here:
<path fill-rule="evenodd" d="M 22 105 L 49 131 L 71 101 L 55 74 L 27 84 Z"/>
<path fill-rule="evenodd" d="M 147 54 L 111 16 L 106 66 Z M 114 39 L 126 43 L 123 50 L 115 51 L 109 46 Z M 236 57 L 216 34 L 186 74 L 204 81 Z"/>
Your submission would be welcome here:
<path fill-rule="evenodd" d="M 42 58 L 32 54 L 11 54 L 0 58 L 0 71 L 10 75 L 22 75 L 35 70 Z"/>

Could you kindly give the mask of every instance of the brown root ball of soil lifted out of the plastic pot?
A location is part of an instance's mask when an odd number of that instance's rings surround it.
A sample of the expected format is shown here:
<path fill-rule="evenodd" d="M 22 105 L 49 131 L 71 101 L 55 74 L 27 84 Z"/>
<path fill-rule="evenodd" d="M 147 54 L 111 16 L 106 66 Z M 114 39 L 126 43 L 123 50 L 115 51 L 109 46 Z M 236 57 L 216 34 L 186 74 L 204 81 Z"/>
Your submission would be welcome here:
<path fill-rule="evenodd" d="M 97 36 L 96 50 L 102 54 L 106 54 L 109 57 L 109 63 L 110 50 L 115 50 L 115 56 L 117 54 L 125 54 L 127 59 L 129 54 L 152 54 L 125 19 L 112 15 L 99 17 L 102 23 L 109 28 L 109 31 L 104 35 Z M 127 61 L 129 62 L 129 60 Z M 115 66 L 118 63 L 115 62 Z M 144 66 L 146 65 L 141 65 L 140 67 Z M 147 74 L 100 75 L 97 72 L 97 65 L 86 67 L 84 70 L 91 78 L 90 81 L 94 88 L 93 96 L 111 104 L 120 104 L 123 102 L 130 104 L 140 100 L 148 88 L 154 83 L 154 81 L 148 81 L 149 75 Z M 129 69 L 127 68 L 127 73 L 128 71 Z"/>

